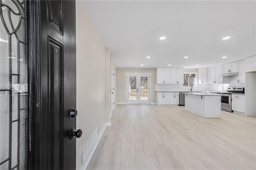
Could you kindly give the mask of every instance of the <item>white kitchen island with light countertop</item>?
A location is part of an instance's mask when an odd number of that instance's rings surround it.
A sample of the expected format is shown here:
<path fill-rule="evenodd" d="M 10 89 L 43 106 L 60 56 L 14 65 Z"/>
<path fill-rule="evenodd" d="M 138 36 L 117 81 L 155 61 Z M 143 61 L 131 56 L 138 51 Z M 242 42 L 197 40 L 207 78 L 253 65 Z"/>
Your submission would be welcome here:
<path fill-rule="evenodd" d="M 185 94 L 185 109 L 202 117 L 220 117 L 220 94 L 209 92 L 182 92 Z"/>

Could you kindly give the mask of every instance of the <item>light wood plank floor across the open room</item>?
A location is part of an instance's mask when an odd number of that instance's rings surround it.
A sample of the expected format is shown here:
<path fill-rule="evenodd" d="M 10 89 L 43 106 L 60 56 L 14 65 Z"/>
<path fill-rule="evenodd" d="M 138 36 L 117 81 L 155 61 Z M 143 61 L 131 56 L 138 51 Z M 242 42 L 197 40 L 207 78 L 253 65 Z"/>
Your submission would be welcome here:
<path fill-rule="evenodd" d="M 256 169 L 256 117 L 118 105 L 87 169 Z"/>

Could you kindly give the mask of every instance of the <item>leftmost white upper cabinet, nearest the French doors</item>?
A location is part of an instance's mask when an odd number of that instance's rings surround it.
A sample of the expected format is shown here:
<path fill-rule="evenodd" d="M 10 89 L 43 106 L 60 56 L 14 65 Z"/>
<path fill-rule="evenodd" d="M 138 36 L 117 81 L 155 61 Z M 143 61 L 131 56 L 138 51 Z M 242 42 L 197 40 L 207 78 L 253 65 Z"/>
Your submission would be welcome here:
<path fill-rule="evenodd" d="M 156 84 L 171 84 L 171 68 L 156 68 Z"/>

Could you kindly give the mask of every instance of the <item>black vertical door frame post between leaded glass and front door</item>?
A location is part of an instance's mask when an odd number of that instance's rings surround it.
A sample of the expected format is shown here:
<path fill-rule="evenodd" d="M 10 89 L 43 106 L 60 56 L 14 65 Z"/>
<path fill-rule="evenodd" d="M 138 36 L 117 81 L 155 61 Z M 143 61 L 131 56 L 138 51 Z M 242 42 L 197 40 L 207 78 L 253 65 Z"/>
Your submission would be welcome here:
<path fill-rule="evenodd" d="M 40 2 L 28 2 L 28 169 L 39 169 L 40 163 Z"/>

